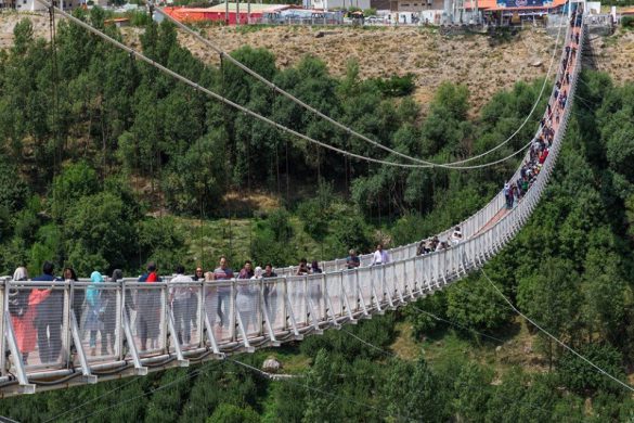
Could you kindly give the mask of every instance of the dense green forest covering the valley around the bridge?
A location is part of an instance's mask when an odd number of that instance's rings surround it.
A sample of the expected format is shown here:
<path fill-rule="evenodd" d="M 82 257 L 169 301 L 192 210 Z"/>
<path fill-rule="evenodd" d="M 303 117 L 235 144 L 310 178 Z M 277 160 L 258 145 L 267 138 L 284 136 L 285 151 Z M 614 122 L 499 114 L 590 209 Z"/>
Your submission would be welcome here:
<path fill-rule="evenodd" d="M 99 9 L 77 13 L 103 27 Z M 120 38 L 115 28 L 106 30 Z M 156 61 L 229 99 L 316 139 L 383 157 L 237 68 L 205 66 L 167 24 L 147 26 L 141 42 Z M 542 84 L 518 82 L 496 93 L 476 118 L 468 117 L 468 90 L 445 84 L 423 116 L 406 80 L 361 80 L 353 62 L 344 78 L 335 78 L 311 56 L 280 69 L 266 50 L 233 54 L 362 133 L 435 161 L 503 141 Z M 539 208 L 486 271 L 544 329 L 627 381 L 634 364 L 634 85 L 617 86 L 608 75 L 586 70 L 578 94 Z M 225 194 L 253 190 L 284 205 L 253 216 L 249 253 L 258 262 L 298 258 L 292 217 L 324 245 L 324 258 L 350 246 L 366 251 L 377 228 L 397 245 L 474 213 L 517 166 L 403 170 L 347 161 L 254 123 L 66 23 L 60 24 L 55 54 L 34 39 L 28 21 L 17 25 L 14 47 L 0 51 L 0 273 L 21 264 L 35 272 L 50 258 L 80 274 L 115 267 L 134 274 L 148 258 L 165 269 L 193 265 L 191 234 L 174 216 L 224 217 L 232 213 Z M 490 158 L 522 145 L 536 120 Z M 532 329 L 534 367 L 502 370 L 468 352 L 504 351 L 520 322 L 478 273 L 358 326 L 233 357 L 255 367 L 268 354 L 305 358 L 292 371 L 295 379 L 273 382 L 225 360 L 2 400 L 0 414 L 94 422 L 634 419 L 626 389 Z M 390 352 L 403 323 L 412 328 L 414 358 Z M 465 343 L 463 352 L 451 360 L 428 354 L 452 336 Z"/>

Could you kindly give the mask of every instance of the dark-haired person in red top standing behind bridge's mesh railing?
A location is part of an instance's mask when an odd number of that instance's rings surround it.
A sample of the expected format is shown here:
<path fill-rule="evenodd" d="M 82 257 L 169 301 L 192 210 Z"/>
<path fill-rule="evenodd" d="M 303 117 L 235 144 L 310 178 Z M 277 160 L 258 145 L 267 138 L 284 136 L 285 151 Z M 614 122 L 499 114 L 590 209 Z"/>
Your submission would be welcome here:
<path fill-rule="evenodd" d="M 147 273 L 139 278 L 139 282 L 163 282 L 153 261 L 147 264 Z M 147 350 L 147 339 L 151 341 L 151 347 L 156 348 L 156 342 L 160 333 L 160 291 L 139 289 L 137 293 L 137 305 L 139 306 L 137 329 L 141 338 L 141 350 Z"/>

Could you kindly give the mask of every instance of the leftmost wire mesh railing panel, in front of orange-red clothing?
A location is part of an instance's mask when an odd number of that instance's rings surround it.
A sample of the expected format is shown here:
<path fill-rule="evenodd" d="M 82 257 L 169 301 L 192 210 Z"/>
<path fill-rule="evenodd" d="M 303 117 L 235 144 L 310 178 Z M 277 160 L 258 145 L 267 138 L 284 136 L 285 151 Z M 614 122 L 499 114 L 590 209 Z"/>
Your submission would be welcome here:
<path fill-rule="evenodd" d="M 8 308 L 26 369 L 62 367 L 64 287 L 43 284 L 12 284 Z"/>

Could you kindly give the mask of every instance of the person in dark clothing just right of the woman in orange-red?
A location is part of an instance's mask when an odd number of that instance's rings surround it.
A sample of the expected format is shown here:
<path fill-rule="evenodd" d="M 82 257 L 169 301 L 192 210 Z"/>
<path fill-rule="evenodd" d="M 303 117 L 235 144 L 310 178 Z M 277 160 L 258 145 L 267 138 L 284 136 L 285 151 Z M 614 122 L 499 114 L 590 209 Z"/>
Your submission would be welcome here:
<path fill-rule="evenodd" d="M 53 282 L 59 281 L 53 275 L 55 266 L 51 261 L 44 261 L 42 274 L 33 281 Z M 64 317 L 64 292 L 53 290 L 38 306 L 36 328 L 38 331 L 38 350 L 42 363 L 55 362 L 62 351 L 62 320 Z"/>

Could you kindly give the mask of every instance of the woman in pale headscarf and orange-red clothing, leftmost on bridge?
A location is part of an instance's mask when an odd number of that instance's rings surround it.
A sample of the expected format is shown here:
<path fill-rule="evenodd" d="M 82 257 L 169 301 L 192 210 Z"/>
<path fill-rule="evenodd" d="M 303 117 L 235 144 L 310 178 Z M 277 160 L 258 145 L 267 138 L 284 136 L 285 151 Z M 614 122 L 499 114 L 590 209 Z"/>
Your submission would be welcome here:
<path fill-rule="evenodd" d="M 13 281 L 22 282 L 28 280 L 26 268 L 18 267 L 13 273 Z M 28 355 L 35 350 L 37 328 L 36 317 L 38 305 L 49 297 L 49 290 L 12 289 L 9 292 L 9 312 L 13 333 L 17 343 L 17 349 L 22 354 L 22 362 L 27 363 Z"/>

